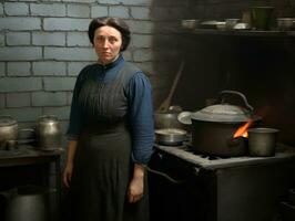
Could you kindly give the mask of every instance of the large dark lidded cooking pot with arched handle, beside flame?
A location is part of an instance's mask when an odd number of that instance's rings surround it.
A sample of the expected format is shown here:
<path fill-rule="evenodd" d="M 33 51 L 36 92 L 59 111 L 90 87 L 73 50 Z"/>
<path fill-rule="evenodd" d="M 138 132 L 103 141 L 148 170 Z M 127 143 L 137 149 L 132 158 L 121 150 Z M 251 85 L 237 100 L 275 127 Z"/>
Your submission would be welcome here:
<path fill-rule="evenodd" d="M 242 105 L 226 103 L 228 95 L 237 97 Z M 220 93 L 216 104 L 207 106 L 191 115 L 193 150 L 222 157 L 243 156 L 247 154 L 245 139 L 233 138 L 238 127 L 245 123 L 257 122 L 253 107 L 246 97 L 235 91 Z"/>

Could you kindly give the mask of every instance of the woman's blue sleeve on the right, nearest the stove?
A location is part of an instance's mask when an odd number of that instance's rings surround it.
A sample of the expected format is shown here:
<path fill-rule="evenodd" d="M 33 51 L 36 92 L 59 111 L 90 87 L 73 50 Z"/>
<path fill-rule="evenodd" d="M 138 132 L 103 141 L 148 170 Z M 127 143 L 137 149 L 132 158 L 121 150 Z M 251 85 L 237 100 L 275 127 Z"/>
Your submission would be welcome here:
<path fill-rule="evenodd" d="M 146 165 L 154 141 L 152 88 L 149 78 L 141 72 L 136 73 L 129 82 L 128 94 L 133 160 Z"/>

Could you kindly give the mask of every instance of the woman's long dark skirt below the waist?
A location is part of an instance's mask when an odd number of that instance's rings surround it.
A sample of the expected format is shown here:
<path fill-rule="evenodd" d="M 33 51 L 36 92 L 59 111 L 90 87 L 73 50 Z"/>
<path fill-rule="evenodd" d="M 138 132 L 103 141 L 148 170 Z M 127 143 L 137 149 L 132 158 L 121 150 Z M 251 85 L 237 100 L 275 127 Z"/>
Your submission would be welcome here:
<path fill-rule="evenodd" d="M 149 221 L 146 176 L 144 197 L 128 202 L 132 175 L 131 138 L 124 127 L 83 133 L 71 181 L 73 220 Z"/>

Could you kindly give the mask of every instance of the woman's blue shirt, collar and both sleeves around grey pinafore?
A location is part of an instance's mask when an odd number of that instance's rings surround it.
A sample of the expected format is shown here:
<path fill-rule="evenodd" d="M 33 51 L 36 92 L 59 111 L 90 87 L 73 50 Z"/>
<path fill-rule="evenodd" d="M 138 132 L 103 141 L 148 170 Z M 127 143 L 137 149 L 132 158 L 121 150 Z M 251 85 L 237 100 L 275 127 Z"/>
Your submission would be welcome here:
<path fill-rule="evenodd" d="M 119 69 L 124 64 L 123 56 L 119 56 L 111 64 L 95 64 L 95 74 L 99 82 L 108 83 L 115 78 Z M 88 67 L 88 66 L 87 66 Z M 68 128 L 68 137 L 78 139 L 83 127 L 83 114 L 78 104 L 78 92 L 81 88 L 83 78 L 85 77 L 87 67 L 84 67 L 75 82 L 70 124 Z M 136 72 L 128 83 L 125 94 L 128 97 L 128 120 L 132 129 L 132 158 L 139 164 L 146 165 L 152 155 L 154 140 L 154 124 L 153 124 L 153 105 L 152 105 L 152 88 L 149 78 L 143 72 Z"/>

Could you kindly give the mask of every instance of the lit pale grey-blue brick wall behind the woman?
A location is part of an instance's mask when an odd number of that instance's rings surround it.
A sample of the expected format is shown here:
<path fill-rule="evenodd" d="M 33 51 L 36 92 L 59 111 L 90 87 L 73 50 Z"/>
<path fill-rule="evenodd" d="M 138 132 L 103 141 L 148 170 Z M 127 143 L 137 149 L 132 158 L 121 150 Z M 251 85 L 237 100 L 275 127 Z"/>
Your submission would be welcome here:
<path fill-rule="evenodd" d="M 125 60 L 152 69 L 150 7 L 151 0 L 0 1 L 0 115 L 68 119 L 75 78 L 98 60 L 87 33 L 96 17 L 124 19 L 133 32 Z"/>

